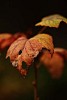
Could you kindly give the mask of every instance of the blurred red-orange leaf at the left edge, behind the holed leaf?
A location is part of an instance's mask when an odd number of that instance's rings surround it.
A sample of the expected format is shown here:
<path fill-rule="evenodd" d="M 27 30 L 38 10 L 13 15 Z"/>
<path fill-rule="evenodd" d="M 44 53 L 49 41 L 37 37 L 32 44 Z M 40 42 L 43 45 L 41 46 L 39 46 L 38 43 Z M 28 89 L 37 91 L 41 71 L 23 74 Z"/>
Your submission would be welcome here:
<path fill-rule="evenodd" d="M 4 48 L 10 46 L 18 37 L 22 36 L 21 33 L 16 33 L 12 35 L 11 33 L 2 33 L 0 34 L 0 51 Z"/>

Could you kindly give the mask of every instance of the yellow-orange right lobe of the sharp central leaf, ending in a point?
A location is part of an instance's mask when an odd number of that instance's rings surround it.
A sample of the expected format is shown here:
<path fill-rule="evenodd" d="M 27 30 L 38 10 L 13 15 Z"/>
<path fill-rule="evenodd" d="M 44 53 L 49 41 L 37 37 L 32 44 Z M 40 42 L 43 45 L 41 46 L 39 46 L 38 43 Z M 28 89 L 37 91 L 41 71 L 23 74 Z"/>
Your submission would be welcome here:
<path fill-rule="evenodd" d="M 42 48 L 46 48 L 47 50 L 50 51 L 51 54 L 53 54 L 53 39 L 52 36 L 48 35 L 48 34 L 38 34 L 35 37 L 31 38 L 30 40 L 37 40 Z"/>

